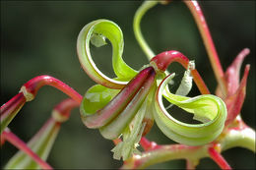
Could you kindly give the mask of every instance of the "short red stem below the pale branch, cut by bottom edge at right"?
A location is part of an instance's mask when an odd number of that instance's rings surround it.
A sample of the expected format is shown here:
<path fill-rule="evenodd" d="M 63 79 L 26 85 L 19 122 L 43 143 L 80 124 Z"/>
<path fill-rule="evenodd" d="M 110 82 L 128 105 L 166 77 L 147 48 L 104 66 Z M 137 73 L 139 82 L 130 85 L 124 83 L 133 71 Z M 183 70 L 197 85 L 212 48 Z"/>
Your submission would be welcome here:
<path fill-rule="evenodd" d="M 210 157 L 222 168 L 222 169 L 231 169 L 229 164 L 225 161 L 221 153 L 219 153 L 214 147 L 208 149 Z"/>

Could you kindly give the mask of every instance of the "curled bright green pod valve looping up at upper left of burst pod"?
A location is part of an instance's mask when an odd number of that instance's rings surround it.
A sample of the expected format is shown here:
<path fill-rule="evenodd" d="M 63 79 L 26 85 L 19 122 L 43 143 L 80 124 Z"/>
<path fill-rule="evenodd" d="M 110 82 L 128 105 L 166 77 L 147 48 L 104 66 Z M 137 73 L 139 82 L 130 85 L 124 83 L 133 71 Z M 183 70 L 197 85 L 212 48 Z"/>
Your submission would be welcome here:
<path fill-rule="evenodd" d="M 96 47 L 100 47 L 106 44 L 105 38 L 109 39 L 112 44 L 114 73 L 122 81 L 110 79 L 101 73 L 92 58 L 90 42 Z M 127 85 L 128 81 L 138 73 L 123 61 L 123 46 L 122 30 L 115 23 L 108 20 L 96 20 L 80 31 L 77 40 L 77 53 L 83 69 L 97 84 L 120 89 Z"/>

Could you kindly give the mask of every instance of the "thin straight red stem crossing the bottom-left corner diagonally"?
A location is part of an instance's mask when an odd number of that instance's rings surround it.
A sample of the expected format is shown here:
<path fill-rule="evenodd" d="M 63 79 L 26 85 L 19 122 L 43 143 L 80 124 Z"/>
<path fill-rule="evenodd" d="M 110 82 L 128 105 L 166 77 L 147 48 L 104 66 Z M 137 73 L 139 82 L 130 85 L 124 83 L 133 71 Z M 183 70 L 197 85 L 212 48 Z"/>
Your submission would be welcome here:
<path fill-rule="evenodd" d="M 42 169 L 53 169 L 47 162 L 43 161 L 37 154 L 35 154 L 30 147 L 27 146 L 25 142 L 20 140 L 15 134 L 13 134 L 9 129 L 5 129 L 3 138 L 11 142 L 20 150 L 23 150 L 26 154 L 32 157 L 32 159 L 42 168 Z"/>

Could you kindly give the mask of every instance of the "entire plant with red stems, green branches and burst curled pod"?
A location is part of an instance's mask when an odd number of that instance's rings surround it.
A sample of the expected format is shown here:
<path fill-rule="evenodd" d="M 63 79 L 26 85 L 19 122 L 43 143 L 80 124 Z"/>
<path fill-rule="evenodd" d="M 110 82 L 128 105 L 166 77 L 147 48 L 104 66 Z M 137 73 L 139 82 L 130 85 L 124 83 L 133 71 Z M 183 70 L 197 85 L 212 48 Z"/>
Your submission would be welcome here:
<path fill-rule="evenodd" d="M 84 96 L 58 79 L 43 75 L 22 85 L 19 93 L 1 106 L 1 147 L 10 142 L 19 149 L 4 168 L 53 169 L 46 159 L 62 123 L 69 119 L 71 110 L 76 107 L 79 107 L 87 128 L 98 129 L 102 138 L 115 144 L 109 156 L 123 161 L 121 169 L 146 168 L 176 159 L 186 160 L 186 168 L 195 169 L 205 157 L 212 158 L 222 169 L 231 169 L 222 155 L 224 150 L 240 146 L 255 152 L 255 131 L 240 116 L 250 65 L 245 66 L 241 77 L 240 68 L 249 49 L 243 49 L 224 71 L 201 7 L 196 1 L 184 1 L 199 28 L 218 82 L 216 92 L 211 94 L 196 69 L 196 57 L 190 57 L 192 54 L 185 56 L 176 50 L 155 54 L 144 39 L 141 20 L 159 3 L 171 4 L 168 1 L 145 1 L 134 17 L 135 37 L 149 59 L 140 70 L 132 69 L 122 58 L 121 28 L 112 21 L 99 19 L 82 28 L 77 38 L 81 66 L 96 82 Z M 115 78 L 102 73 L 91 54 L 93 45 L 101 47 L 107 43 L 112 46 Z M 172 63 L 180 64 L 184 73 L 170 73 L 167 69 Z M 183 78 L 173 91 L 171 86 L 175 84 L 177 74 L 182 74 Z M 195 87 L 193 82 L 201 94 L 191 97 L 188 93 Z M 8 126 L 44 85 L 61 90 L 69 98 L 54 107 L 50 118 L 29 142 L 23 142 Z M 163 98 L 168 101 L 167 105 Z M 196 123 L 185 123 L 173 117 L 174 106 L 192 114 Z M 146 135 L 154 124 L 162 135 L 176 143 L 158 144 L 147 140 Z"/>

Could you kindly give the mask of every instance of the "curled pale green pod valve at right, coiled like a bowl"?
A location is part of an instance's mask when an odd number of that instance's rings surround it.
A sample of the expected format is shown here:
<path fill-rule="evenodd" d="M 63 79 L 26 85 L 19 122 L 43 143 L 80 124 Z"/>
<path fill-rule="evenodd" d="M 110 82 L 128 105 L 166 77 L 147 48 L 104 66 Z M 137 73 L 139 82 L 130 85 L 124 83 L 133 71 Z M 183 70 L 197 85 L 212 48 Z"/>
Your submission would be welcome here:
<path fill-rule="evenodd" d="M 174 77 L 166 77 L 160 84 L 155 99 L 154 118 L 160 130 L 169 139 L 188 145 L 200 145 L 214 141 L 224 129 L 226 108 L 224 101 L 211 94 L 185 97 L 164 90 L 165 85 Z M 194 114 L 194 119 L 202 124 L 186 124 L 174 119 L 162 104 L 162 94 L 172 104 Z"/>

